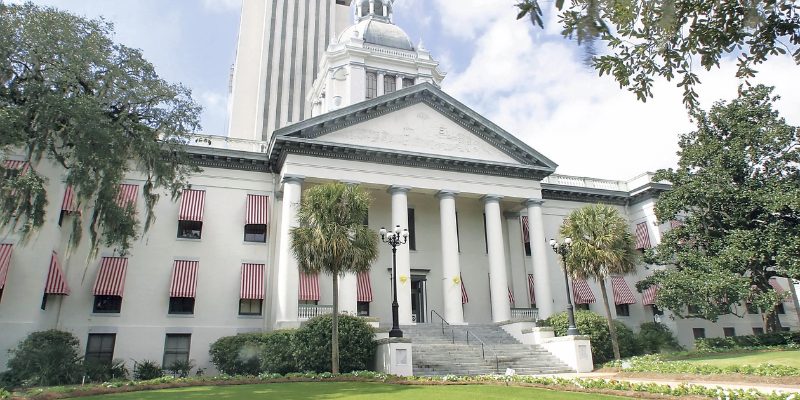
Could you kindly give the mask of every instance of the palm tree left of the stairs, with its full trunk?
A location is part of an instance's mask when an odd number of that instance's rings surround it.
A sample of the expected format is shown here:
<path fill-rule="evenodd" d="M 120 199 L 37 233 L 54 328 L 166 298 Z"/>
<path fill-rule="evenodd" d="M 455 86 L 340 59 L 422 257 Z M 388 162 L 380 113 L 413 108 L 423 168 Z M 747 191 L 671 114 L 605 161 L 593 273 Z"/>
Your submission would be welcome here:
<path fill-rule="evenodd" d="M 339 277 L 369 270 L 378 257 L 378 234 L 363 225 L 369 194 L 356 185 L 329 183 L 303 195 L 300 225 L 290 231 L 291 247 L 303 273 L 333 277 L 331 372 L 339 373 Z"/>

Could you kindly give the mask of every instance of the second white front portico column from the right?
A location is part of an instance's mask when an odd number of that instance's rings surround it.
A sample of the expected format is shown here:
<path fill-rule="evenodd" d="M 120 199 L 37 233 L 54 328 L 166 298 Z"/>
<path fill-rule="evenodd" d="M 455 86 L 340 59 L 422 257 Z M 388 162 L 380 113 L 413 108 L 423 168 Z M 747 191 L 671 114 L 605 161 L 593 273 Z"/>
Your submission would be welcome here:
<path fill-rule="evenodd" d="M 486 241 L 489 247 L 489 276 L 491 279 L 489 290 L 492 293 L 492 320 L 494 322 L 511 319 L 500 199 L 500 196 L 493 195 L 483 198 L 484 212 L 486 213 Z"/>

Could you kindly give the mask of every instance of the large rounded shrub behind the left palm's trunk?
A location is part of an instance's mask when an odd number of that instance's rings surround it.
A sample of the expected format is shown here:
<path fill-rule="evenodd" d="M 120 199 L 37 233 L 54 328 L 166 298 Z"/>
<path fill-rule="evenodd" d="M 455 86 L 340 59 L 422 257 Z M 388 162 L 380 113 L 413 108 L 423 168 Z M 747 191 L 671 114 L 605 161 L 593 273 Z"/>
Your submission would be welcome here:
<path fill-rule="evenodd" d="M 330 371 L 331 315 L 310 319 L 294 335 L 294 356 L 301 371 Z M 339 316 L 339 370 L 367 369 L 375 356 L 374 332 L 363 319 Z"/>

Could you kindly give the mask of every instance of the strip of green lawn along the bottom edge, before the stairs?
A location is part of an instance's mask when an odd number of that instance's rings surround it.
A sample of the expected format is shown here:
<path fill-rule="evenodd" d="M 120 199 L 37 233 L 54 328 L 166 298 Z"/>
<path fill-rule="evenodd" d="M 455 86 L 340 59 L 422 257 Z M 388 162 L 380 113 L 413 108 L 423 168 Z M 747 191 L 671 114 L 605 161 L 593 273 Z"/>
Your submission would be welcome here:
<path fill-rule="evenodd" d="M 113 395 L 85 397 L 85 399 L 348 399 L 348 400 L 398 400 L 435 399 L 462 400 L 480 398 L 481 400 L 514 399 L 621 399 L 622 397 L 599 394 L 554 392 L 545 389 L 486 386 L 486 385 L 448 385 L 415 386 L 391 385 L 361 382 L 302 382 L 272 383 L 265 385 L 241 386 L 199 386 L 191 388 L 165 389 Z"/>

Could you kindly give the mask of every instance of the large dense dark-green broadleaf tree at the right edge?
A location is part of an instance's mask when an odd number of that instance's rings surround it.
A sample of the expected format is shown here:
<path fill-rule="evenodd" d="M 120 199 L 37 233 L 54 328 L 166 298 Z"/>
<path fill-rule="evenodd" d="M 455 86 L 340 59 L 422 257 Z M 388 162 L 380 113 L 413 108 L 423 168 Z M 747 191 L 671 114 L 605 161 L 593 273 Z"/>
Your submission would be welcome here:
<path fill-rule="evenodd" d="M 655 180 L 672 189 L 656 205 L 661 221 L 680 220 L 648 261 L 675 265 L 658 284 L 657 303 L 677 315 L 716 321 L 744 314 L 745 302 L 779 328 L 783 296 L 772 277 L 800 278 L 800 139 L 772 109 L 772 88 L 742 90 L 730 103 L 697 111 L 697 130 L 681 136 L 676 169 Z"/>

